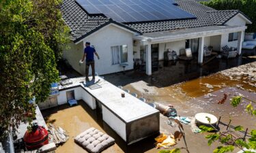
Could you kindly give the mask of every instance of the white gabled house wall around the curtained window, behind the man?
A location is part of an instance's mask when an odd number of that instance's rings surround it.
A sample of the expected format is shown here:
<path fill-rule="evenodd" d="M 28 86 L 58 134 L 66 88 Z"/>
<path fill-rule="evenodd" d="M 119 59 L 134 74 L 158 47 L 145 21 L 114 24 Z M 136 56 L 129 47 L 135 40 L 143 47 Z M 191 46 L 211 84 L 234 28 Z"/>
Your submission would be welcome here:
<path fill-rule="evenodd" d="M 111 46 L 128 46 L 128 66 L 126 70 L 133 69 L 132 33 L 111 25 L 88 36 L 84 41 L 91 42 L 91 46 L 96 48 L 96 52 L 100 56 L 100 60 L 95 59 L 95 71 L 99 75 L 123 71 L 123 67 L 111 63 Z"/>

